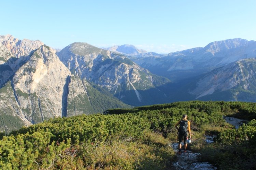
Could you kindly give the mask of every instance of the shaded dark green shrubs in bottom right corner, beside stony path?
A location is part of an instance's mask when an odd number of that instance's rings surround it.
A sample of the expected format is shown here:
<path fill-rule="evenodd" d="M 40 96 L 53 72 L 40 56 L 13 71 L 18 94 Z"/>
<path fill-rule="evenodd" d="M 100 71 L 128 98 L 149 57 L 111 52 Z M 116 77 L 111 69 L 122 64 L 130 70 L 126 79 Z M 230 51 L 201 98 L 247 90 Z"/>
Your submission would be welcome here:
<path fill-rule="evenodd" d="M 255 169 L 256 120 L 239 129 L 227 129 L 217 135 L 217 142 L 199 150 L 202 161 L 218 165 L 219 169 Z"/>

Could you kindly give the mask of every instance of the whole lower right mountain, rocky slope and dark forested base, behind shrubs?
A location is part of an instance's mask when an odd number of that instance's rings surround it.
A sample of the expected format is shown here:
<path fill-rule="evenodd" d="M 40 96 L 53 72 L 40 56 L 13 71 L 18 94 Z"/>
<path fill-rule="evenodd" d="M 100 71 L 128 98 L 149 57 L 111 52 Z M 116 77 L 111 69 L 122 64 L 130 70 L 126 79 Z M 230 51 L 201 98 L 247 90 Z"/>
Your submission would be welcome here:
<path fill-rule="evenodd" d="M 256 102 L 256 58 L 249 58 L 214 69 L 190 90 L 199 100 Z"/>

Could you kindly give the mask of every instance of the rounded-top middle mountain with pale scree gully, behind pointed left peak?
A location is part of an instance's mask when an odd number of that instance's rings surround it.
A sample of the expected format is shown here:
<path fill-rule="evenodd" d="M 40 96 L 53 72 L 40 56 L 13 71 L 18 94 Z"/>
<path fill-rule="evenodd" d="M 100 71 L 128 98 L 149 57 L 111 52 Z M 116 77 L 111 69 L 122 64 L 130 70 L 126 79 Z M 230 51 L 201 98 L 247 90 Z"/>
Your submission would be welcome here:
<path fill-rule="evenodd" d="M 57 55 L 73 74 L 108 89 L 125 103 L 152 104 L 156 96 L 165 98 L 157 87 L 169 80 L 141 68 L 123 54 L 87 43 L 73 43 Z"/>

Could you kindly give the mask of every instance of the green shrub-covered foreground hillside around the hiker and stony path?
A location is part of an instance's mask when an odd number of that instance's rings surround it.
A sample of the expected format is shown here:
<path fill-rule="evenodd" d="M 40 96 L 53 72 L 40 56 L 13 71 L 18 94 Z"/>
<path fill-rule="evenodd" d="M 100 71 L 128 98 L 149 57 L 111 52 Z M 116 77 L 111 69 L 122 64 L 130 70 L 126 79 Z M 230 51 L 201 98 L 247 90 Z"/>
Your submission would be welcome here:
<path fill-rule="evenodd" d="M 256 103 L 190 101 L 50 119 L 0 134 L 0 169 L 171 169 L 176 157 L 169 144 L 177 141 L 174 124 L 183 114 L 191 121 L 189 149 L 202 161 L 253 169 L 255 111 Z M 249 123 L 236 130 L 223 116 Z M 205 145 L 205 134 L 217 135 L 216 142 Z"/>

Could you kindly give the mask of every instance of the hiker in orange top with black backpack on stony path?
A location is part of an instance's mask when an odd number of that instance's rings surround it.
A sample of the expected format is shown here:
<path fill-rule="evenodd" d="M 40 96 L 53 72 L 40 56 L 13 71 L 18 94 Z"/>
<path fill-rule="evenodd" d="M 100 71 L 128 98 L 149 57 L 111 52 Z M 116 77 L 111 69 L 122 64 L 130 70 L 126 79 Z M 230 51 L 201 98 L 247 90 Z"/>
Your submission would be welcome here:
<path fill-rule="evenodd" d="M 179 128 L 177 127 L 178 125 L 180 125 Z M 182 119 L 175 124 L 175 128 L 178 130 L 179 134 L 179 154 L 181 154 L 182 140 L 184 140 L 184 152 L 187 152 L 187 132 L 189 133 L 190 139 L 192 139 L 190 131 L 190 122 L 187 120 L 187 115 L 183 115 Z"/>

